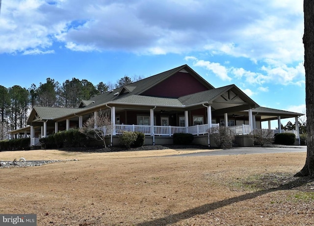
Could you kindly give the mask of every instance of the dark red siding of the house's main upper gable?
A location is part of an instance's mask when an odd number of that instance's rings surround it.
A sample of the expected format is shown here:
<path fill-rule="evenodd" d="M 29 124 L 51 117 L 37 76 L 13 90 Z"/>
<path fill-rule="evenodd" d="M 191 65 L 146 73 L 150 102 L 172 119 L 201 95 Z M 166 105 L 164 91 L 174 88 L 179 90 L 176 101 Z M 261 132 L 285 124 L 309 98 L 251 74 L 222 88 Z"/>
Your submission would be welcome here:
<path fill-rule="evenodd" d="M 145 91 L 142 95 L 179 98 L 205 90 L 208 90 L 208 88 L 196 80 L 196 78 L 194 78 L 192 75 L 184 72 L 178 72 L 177 74 L 170 76 L 151 89 Z"/>

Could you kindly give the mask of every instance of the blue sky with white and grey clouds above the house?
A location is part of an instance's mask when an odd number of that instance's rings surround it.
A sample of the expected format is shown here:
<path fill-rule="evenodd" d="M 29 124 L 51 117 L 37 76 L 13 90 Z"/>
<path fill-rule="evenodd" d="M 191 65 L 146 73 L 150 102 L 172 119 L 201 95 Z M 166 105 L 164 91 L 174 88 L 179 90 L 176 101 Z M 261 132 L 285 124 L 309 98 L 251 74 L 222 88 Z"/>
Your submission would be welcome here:
<path fill-rule="evenodd" d="M 305 113 L 303 1 L 2 0 L 0 10 L 7 88 L 115 83 L 187 64 L 214 87 Z"/>

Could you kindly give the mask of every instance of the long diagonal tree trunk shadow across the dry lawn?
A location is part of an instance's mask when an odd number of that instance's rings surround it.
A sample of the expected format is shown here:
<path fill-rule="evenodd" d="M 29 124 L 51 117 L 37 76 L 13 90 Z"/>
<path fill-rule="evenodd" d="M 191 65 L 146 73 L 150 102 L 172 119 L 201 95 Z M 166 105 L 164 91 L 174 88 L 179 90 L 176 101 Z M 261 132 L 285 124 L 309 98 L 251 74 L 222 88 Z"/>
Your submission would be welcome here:
<path fill-rule="evenodd" d="M 200 215 L 200 214 L 205 214 L 207 212 L 213 211 L 215 209 L 218 209 L 218 208 L 221 208 L 221 207 L 224 207 L 224 206 L 236 203 L 236 202 L 251 200 L 251 199 L 257 198 L 259 196 L 262 196 L 262 195 L 265 195 L 274 191 L 295 189 L 313 181 L 314 181 L 314 177 L 297 177 L 297 179 L 290 181 L 288 183 L 279 185 L 277 187 L 272 187 L 272 188 L 256 191 L 253 193 L 244 194 L 244 195 L 230 198 L 227 200 L 211 202 L 211 203 L 204 204 L 204 205 L 195 207 L 193 209 L 188 209 L 186 211 L 172 214 L 163 218 L 158 218 L 152 221 L 139 223 L 136 226 L 161 226 L 161 225 L 174 224 L 181 220 L 188 219 L 196 215 Z"/>

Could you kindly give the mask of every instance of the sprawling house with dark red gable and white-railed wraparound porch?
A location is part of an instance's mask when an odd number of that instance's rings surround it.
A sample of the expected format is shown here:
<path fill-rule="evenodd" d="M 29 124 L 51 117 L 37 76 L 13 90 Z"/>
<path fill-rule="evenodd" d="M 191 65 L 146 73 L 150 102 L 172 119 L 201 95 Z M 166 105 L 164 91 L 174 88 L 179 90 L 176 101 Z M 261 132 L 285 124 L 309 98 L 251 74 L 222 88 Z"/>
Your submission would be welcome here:
<path fill-rule="evenodd" d="M 82 100 L 78 108 L 35 106 L 27 127 L 11 134 L 29 134 L 30 145 L 40 137 L 60 130 L 79 128 L 100 110 L 109 109 L 114 131 L 111 145 L 117 145 L 117 135 L 123 130 L 140 131 L 146 135 L 145 144 L 171 144 L 177 132 L 195 135 L 194 143 L 212 145 L 209 128 L 228 126 L 237 136 L 240 146 L 250 146 L 245 137 L 262 122 L 294 118 L 301 113 L 259 106 L 236 85 L 214 88 L 189 66 L 153 75 L 129 85 Z M 281 131 L 281 126 L 278 126 Z M 299 138 L 296 130 L 290 131 Z"/>

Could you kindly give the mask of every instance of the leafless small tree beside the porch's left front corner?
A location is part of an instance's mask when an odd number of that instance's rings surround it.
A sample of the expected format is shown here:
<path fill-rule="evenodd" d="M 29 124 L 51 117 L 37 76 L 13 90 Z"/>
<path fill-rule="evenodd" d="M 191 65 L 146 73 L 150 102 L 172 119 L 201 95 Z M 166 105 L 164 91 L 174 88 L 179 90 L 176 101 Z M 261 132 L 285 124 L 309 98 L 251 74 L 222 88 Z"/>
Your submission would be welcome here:
<path fill-rule="evenodd" d="M 106 148 L 105 137 L 113 131 L 109 111 L 99 111 L 97 116 L 90 117 L 79 131 L 90 138 L 103 141 Z"/>

